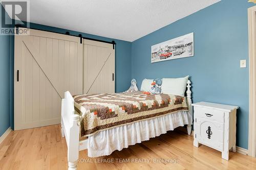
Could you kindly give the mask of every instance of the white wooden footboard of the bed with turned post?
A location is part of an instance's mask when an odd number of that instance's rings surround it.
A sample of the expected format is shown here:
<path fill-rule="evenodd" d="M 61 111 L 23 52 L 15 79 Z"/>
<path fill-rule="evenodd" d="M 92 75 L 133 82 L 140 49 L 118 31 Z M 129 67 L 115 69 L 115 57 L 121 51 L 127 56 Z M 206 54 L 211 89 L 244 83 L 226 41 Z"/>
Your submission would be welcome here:
<path fill-rule="evenodd" d="M 69 91 L 61 101 L 61 135 L 66 137 L 69 170 L 77 169 L 79 155 L 79 116 L 74 114 L 74 99 Z"/>

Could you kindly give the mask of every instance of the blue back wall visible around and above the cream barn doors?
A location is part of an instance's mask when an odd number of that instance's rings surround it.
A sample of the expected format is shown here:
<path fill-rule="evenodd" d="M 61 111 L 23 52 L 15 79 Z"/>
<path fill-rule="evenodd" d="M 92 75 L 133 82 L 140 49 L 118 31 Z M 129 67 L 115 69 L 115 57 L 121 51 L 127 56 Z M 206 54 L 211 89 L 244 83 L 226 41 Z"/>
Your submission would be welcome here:
<path fill-rule="evenodd" d="M 122 92 L 127 90 L 131 85 L 131 52 L 132 52 L 132 43 L 128 41 L 122 41 L 118 39 L 112 39 L 112 38 L 106 38 L 106 37 L 100 37 L 96 35 L 86 34 L 86 33 L 80 33 L 76 31 L 71 30 L 65 30 L 65 29 L 59 29 L 55 27 L 49 27 L 44 25 L 38 25 L 36 23 L 30 23 L 31 29 L 40 29 L 44 31 L 52 31 L 57 33 L 66 33 L 67 31 L 70 32 L 70 35 L 78 35 L 82 34 L 83 37 L 88 38 L 94 38 L 104 41 L 115 41 L 116 42 L 116 48 L 115 48 L 115 54 L 116 54 L 116 61 L 115 61 L 115 87 L 116 92 Z M 11 127 L 13 128 L 13 59 L 14 59 L 14 37 L 11 36 L 11 46 L 10 46 L 10 84 L 11 84 L 11 103 L 10 103 L 10 123 Z"/>

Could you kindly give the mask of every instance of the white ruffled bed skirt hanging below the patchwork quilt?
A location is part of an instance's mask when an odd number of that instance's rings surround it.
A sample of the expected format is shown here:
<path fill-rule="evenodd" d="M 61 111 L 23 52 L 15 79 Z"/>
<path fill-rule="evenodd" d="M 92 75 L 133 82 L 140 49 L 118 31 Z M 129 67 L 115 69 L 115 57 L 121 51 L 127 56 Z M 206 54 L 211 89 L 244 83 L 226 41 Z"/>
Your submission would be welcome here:
<path fill-rule="evenodd" d="M 179 126 L 191 124 L 188 111 L 142 120 L 130 125 L 124 125 L 88 137 L 88 156 L 99 157 L 110 155 L 113 151 L 121 151 L 129 145 L 141 143 L 152 137 L 159 136 Z"/>

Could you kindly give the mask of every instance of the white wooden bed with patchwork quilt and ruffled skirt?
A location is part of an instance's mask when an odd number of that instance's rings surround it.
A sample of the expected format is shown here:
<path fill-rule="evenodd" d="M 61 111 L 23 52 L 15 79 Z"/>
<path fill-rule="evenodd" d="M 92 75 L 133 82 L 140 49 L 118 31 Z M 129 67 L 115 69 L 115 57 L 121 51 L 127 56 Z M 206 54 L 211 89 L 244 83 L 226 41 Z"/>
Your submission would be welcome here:
<path fill-rule="evenodd" d="M 129 93 L 71 95 L 61 102 L 61 134 L 66 137 L 69 169 L 77 169 L 79 151 L 89 157 L 110 155 L 169 130 L 187 125 L 191 134 L 190 81 L 186 96 Z"/>

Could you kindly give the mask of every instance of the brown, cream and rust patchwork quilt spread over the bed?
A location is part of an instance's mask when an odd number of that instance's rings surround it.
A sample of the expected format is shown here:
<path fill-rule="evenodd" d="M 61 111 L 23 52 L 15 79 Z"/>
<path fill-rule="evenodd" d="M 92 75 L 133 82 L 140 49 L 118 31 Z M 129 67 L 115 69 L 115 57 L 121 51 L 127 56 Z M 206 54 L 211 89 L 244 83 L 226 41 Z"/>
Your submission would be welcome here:
<path fill-rule="evenodd" d="M 170 94 L 144 94 L 143 91 L 74 95 L 79 115 L 80 137 L 150 119 L 179 110 L 188 110 L 186 98 Z"/>

